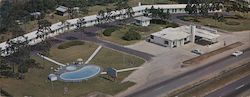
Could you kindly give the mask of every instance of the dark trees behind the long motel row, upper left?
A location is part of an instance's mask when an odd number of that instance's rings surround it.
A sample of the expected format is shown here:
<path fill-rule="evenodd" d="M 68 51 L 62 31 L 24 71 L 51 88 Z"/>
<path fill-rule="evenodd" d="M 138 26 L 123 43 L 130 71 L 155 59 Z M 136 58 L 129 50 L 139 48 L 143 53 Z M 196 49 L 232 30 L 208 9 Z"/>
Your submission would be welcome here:
<path fill-rule="evenodd" d="M 4 0 L 0 8 L 0 34 L 12 32 L 14 36 L 25 33 L 20 24 L 33 20 L 30 13 L 40 12 L 38 19 L 55 11 L 59 5 L 68 8 L 79 7 L 83 13 L 88 13 L 88 7 L 105 5 L 121 0 Z"/>

